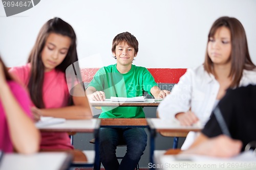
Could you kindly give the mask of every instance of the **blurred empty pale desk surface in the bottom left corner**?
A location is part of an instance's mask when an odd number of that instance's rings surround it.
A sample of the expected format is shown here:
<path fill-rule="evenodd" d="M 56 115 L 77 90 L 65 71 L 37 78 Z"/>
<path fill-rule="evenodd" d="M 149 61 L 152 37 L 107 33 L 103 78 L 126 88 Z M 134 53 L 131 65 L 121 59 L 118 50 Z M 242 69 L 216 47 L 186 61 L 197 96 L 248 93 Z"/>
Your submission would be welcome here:
<path fill-rule="evenodd" d="M 62 170 L 68 169 L 71 161 L 72 156 L 64 152 L 45 152 L 33 155 L 4 154 L 0 163 L 0 170 Z"/>

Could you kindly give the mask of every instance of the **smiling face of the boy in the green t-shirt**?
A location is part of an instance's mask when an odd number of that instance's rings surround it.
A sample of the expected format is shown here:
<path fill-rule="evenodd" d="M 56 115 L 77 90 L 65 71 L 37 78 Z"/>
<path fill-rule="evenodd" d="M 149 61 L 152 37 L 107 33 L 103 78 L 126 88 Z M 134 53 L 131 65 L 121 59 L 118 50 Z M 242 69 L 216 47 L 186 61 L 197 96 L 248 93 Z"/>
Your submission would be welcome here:
<path fill-rule="evenodd" d="M 137 54 L 135 54 L 134 47 L 129 46 L 127 42 L 123 41 L 116 46 L 113 56 L 116 57 L 117 65 L 130 66 Z"/>

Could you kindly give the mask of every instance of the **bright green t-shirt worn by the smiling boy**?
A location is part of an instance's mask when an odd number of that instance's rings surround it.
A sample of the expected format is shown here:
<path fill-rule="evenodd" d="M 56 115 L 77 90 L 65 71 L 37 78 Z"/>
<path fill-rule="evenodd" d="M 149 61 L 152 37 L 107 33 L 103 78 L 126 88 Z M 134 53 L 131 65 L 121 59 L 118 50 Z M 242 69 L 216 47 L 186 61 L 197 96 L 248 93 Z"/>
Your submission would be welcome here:
<path fill-rule="evenodd" d="M 93 80 L 88 85 L 97 91 L 104 91 L 106 99 L 111 96 L 132 98 L 142 96 L 146 91 L 148 94 L 154 86 L 158 86 L 145 67 L 132 65 L 129 72 L 121 74 L 115 65 L 100 68 Z M 99 118 L 144 118 L 142 107 L 101 107 L 102 113 Z"/>

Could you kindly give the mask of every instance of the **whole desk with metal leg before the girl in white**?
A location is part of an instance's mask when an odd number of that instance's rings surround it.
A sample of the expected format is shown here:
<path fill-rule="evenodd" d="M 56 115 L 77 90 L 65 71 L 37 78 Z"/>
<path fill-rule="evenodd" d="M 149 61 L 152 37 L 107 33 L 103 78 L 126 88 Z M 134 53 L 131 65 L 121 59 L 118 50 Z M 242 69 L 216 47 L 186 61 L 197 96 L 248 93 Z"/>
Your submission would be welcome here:
<path fill-rule="evenodd" d="M 181 126 L 177 122 L 171 122 L 160 118 L 147 118 L 147 123 L 151 132 L 151 150 L 150 150 L 150 161 L 154 163 L 154 150 L 155 150 L 155 136 L 156 132 L 164 132 L 170 134 L 187 134 L 190 131 L 200 132 L 202 126 Z M 178 135 L 178 136 L 179 136 Z M 177 142 L 177 141 L 176 141 Z M 176 143 L 177 144 L 177 143 Z M 154 168 L 153 168 L 154 169 Z"/>

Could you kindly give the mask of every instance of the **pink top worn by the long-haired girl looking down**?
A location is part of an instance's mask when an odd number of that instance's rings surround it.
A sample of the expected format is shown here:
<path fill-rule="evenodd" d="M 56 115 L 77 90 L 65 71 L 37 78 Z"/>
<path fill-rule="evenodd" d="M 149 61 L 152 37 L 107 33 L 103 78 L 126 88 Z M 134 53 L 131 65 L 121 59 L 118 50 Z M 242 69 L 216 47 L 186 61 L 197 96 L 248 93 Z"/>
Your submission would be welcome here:
<path fill-rule="evenodd" d="M 15 76 L 17 81 L 25 86 L 29 82 L 31 64 L 20 67 L 13 67 L 9 71 Z M 45 108 L 61 108 L 68 105 L 69 90 L 65 74 L 55 69 L 45 72 L 44 85 L 42 88 L 42 98 Z M 65 132 L 41 132 L 40 149 L 74 149 L 70 143 L 68 133 Z"/>

